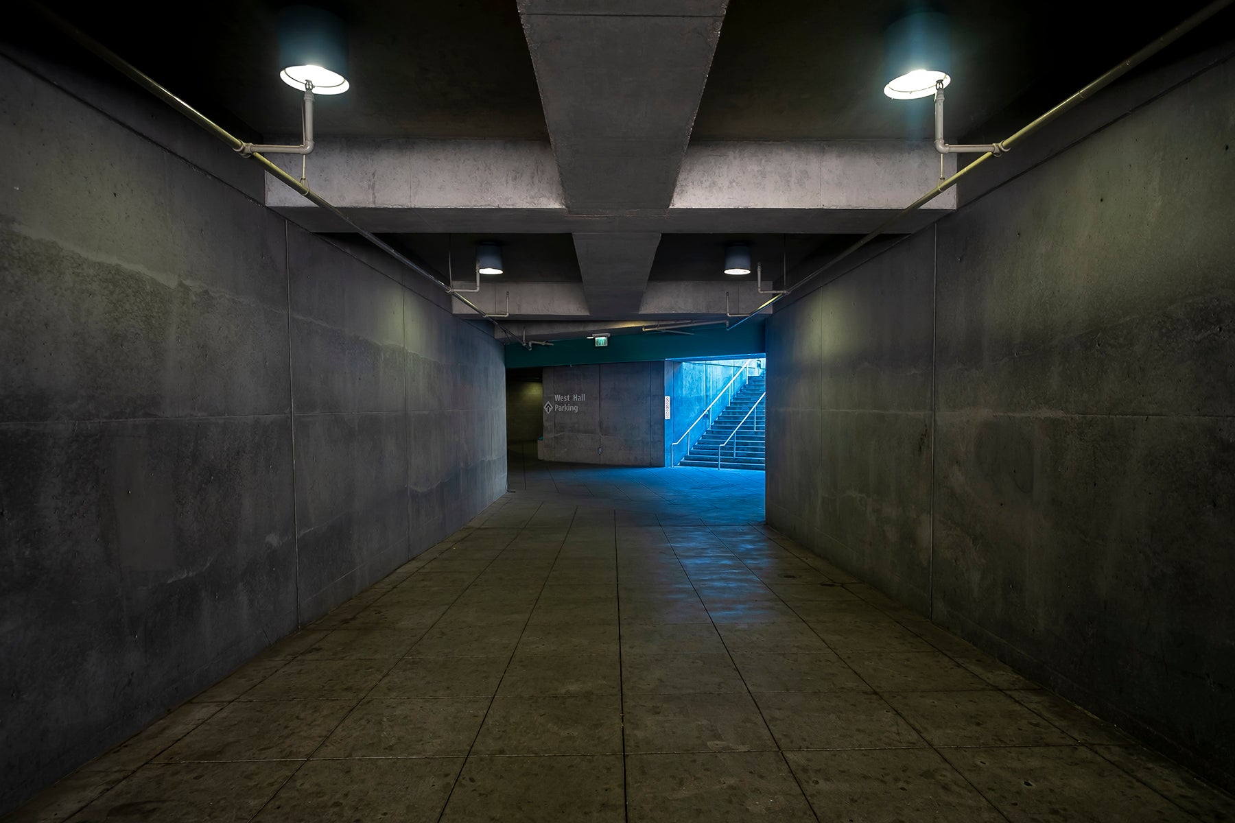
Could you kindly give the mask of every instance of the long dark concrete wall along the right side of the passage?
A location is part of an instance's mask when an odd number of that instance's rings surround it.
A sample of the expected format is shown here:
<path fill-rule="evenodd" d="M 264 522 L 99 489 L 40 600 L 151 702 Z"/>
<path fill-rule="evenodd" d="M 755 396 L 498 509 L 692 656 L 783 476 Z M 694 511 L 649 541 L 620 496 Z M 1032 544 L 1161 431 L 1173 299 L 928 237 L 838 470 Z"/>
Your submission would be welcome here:
<path fill-rule="evenodd" d="M 1226 786 L 1231 100 L 1225 63 L 767 332 L 773 526 Z"/>

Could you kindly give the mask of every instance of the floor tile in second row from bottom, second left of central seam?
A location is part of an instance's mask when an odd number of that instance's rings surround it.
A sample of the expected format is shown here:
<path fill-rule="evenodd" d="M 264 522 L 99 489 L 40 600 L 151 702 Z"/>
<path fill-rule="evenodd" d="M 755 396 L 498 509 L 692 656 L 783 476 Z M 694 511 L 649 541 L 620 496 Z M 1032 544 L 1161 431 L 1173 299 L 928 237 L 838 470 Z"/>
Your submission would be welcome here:
<path fill-rule="evenodd" d="M 363 700 L 312 756 L 462 756 L 488 707 L 488 697 Z"/>

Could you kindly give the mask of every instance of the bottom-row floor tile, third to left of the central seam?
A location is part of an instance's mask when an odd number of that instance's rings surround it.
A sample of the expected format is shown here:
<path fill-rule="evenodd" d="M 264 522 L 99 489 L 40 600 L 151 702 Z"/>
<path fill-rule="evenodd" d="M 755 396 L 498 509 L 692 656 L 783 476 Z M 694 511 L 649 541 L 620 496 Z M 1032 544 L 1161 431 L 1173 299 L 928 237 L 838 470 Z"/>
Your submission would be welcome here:
<path fill-rule="evenodd" d="M 151 764 L 69 818 L 73 823 L 247 821 L 299 760 Z"/>

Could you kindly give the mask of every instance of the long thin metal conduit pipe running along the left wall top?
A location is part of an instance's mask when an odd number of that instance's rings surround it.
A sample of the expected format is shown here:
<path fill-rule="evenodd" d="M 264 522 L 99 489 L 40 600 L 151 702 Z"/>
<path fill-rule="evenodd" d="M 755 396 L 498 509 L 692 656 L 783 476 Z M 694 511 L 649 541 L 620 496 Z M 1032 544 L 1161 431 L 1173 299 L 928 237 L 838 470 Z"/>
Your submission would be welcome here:
<path fill-rule="evenodd" d="M 159 85 L 157 81 L 154 81 L 152 78 L 149 78 L 146 74 L 143 74 L 135 65 L 132 65 L 131 63 L 128 63 L 127 60 L 125 60 L 122 57 L 120 57 L 119 54 L 116 54 L 115 52 L 112 52 L 111 49 L 109 49 L 103 43 L 98 42 L 93 37 L 90 37 L 89 35 L 86 35 L 84 31 L 82 31 L 80 28 L 78 28 L 77 26 L 74 26 L 73 23 L 70 23 L 69 21 L 67 21 L 63 17 L 61 17 L 59 15 L 57 15 L 51 9 L 47 9 L 41 2 L 32 2 L 31 5 L 48 22 L 51 22 L 53 26 L 56 26 L 57 28 L 59 28 L 68 37 L 70 37 L 73 41 L 75 41 L 80 46 L 83 46 L 86 51 L 91 52 L 93 54 L 95 54 L 96 57 L 99 57 L 101 60 L 104 60 L 105 63 L 107 63 L 109 65 L 111 65 L 112 68 L 115 68 L 116 70 L 119 70 L 121 74 L 124 74 L 128 79 L 133 80 L 137 85 L 142 86 L 143 89 L 146 89 L 147 91 L 149 91 L 151 94 L 153 94 L 156 97 L 158 97 L 159 100 L 162 100 L 167 105 L 172 106 L 173 109 L 175 109 L 177 111 L 179 111 L 182 115 L 184 115 L 185 117 L 188 117 L 189 120 L 191 120 L 196 125 L 201 126 L 204 130 L 206 130 L 207 132 L 210 132 L 211 134 L 214 134 L 215 137 L 217 137 L 219 139 L 221 139 L 222 142 L 225 142 L 228 146 L 231 146 L 232 149 L 235 149 L 236 152 L 240 152 L 245 147 L 245 144 L 246 144 L 245 141 L 240 139 L 238 137 L 236 137 L 235 134 L 232 134 L 231 132 L 228 132 L 227 130 L 225 130 L 222 126 L 217 125 L 216 122 L 214 122 L 212 120 L 210 120 L 209 117 L 206 117 L 205 115 L 203 115 L 200 111 L 198 111 L 196 109 L 194 109 L 193 106 L 190 106 L 189 104 L 186 104 L 184 100 L 180 100 L 179 97 L 177 97 L 168 89 L 165 89 L 164 86 Z M 451 287 L 448 285 L 446 285 L 445 283 L 442 283 L 441 280 L 438 280 L 432 273 L 427 271 L 426 269 L 424 269 L 422 267 L 420 267 L 419 264 L 416 264 L 415 262 L 412 262 L 411 259 L 409 259 L 408 257 L 405 257 L 403 253 L 400 253 L 393 246 L 390 246 L 389 243 L 387 243 L 385 241 L 383 241 L 382 238 L 379 238 L 373 232 L 371 232 L 371 231 L 361 227 L 356 221 L 353 221 L 351 217 L 348 217 L 342 211 L 340 211 L 329 200 L 326 200 L 325 197 L 322 197 L 320 194 L 317 194 L 312 189 L 310 189 L 308 185 L 304 185 L 303 183 L 300 183 L 299 180 L 296 180 L 294 176 L 291 176 L 290 174 L 288 174 L 287 172 L 284 172 L 279 167 L 277 167 L 274 163 L 272 163 L 270 160 L 268 160 L 261 153 L 253 153 L 253 154 L 251 154 L 248 157 L 249 157 L 249 159 L 254 160 L 258 165 L 261 165 L 267 173 L 269 173 L 270 176 L 273 176 L 277 180 L 279 180 L 279 183 L 282 183 L 285 186 L 295 190 L 296 194 L 299 194 L 300 196 L 303 196 L 305 200 L 308 200 L 309 202 L 314 204 L 315 206 L 325 209 L 330 213 L 335 215 L 341 221 L 343 221 L 347 226 L 350 226 L 357 234 L 359 234 L 361 237 L 363 237 L 364 239 L 367 239 L 369 243 L 372 243 L 377 248 L 382 249 L 388 255 L 390 255 L 391 258 L 394 258 L 395 260 L 398 260 L 403 265 L 408 267 L 409 269 L 411 269 L 412 271 L 415 271 L 420 276 L 425 278 L 426 280 L 429 280 L 430 283 L 432 283 L 435 286 L 437 286 L 442 291 L 445 291 L 447 294 L 451 294 Z M 483 308 L 480 308 L 479 306 L 477 306 L 474 302 L 472 302 L 467 297 L 461 297 L 457 294 L 453 294 L 452 297 L 454 300 L 458 300 L 462 304 L 469 306 L 471 308 L 473 308 L 484 320 L 489 321 L 496 328 L 499 328 L 503 332 L 505 332 L 506 337 L 509 337 L 510 339 L 514 339 L 514 341 L 519 339 L 517 334 L 515 334 L 509 328 L 506 328 L 505 326 L 503 326 L 501 323 L 499 323 L 488 312 L 485 312 Z M 531 344 L 522 343 L 522 345 L 526 347 L 529 350 L 531 350 Z"/>

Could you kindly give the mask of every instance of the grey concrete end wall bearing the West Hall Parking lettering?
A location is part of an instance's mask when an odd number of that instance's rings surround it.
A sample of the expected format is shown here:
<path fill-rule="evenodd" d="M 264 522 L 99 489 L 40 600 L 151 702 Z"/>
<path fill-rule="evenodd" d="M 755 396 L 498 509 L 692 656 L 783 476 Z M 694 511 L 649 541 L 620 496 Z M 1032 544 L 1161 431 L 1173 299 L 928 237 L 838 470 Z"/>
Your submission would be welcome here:
<path fill-rule="evenodd" d="M 545 401 L 542 460 L 664 465 L 663 363 L 550 366 Z"/>

